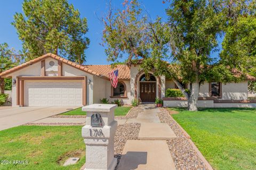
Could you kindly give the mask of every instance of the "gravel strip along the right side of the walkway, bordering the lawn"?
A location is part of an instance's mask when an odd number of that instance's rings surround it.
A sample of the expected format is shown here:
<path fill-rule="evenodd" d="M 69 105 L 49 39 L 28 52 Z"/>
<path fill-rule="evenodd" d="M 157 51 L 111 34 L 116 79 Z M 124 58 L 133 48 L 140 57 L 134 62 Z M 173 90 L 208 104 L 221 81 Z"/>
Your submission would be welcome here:
<path fill-rule="evenodd" d="M 169 124 L 177 135 L 177 138 L 167 140 L 175 167 L 177 169 L 206 169 L 203 161 L 198 157 L 185 134 L 183 134 L 177 123 L 172 120 L 169 111 L 161 108 L 158 116 L 160 121 Z"/>

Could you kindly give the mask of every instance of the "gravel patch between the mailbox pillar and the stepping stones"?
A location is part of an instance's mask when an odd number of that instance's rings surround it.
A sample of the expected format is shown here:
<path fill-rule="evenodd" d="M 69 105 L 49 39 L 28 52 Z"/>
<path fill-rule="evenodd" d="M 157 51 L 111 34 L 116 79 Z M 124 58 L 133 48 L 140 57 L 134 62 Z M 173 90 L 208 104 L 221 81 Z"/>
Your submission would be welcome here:
<path fill-rule="evenodd" d="M 118 167 L 119 161 L 122 156 L 122 152 L 127 140 L 138 140 L 140 131 L 140 123 L 125 123 L 117 126 L 114 149 L 115 149 L 115 158 L 117 158 Z"/>

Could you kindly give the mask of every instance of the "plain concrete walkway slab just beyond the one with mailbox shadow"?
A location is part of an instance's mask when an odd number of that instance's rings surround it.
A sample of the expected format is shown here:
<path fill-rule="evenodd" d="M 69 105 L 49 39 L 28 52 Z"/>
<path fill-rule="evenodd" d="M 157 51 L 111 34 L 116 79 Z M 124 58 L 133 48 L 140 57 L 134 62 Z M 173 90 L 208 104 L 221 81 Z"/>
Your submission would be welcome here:
<path fill-rule="evenodd" d="M 140 140 L 170 140 L 177 138 L 167 123 L 141 123 Z"/>

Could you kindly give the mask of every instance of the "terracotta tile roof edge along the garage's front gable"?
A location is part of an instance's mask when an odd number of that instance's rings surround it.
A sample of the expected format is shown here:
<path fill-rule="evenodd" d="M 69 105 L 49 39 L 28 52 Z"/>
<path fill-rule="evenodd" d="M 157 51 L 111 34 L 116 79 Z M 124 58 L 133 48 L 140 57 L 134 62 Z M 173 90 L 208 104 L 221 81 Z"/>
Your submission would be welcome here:
<path fill-rule="evenodd" d="M 44 59 L 47 58 L 47 57 L 52 57 L 52 58 L 54 58 L 55 60 L 61 61 L 62 63 L 65 63 L 65 64 L 67 64 L 67 65 L 73 66 L 73 67 L 75 67 L 76 69 L 85 71 L 85 72 L 90 73 L 90 74 L 93 74 L 93 75 L 100 76 L 100 74 L 99 74 L 98 72 L 95 72 L 95 71 L 93 71 L 93 70 L 90 70 L 89 68 L 87 68 L 87 67 L 85 67 L 85 66 L 76 64 L 76 63 L 71 62 L 71 61 L 69 61 L 69 60 L 66 60 L 65 58 L 62 58 L 62 57 L 60 57 L 60 56 L 58 56 L 58 55 L 55 55 L 55 54 L 52 54 L 52 53 L 47 53 L 47 54 L 45 54 L 45 55 L 43 55 L 43 56 L 41 56 L 41 57 L 35 58 L 34 60 L 30 60 L 30 61 L 28 61 L 28 62 L 26 62 L 26 63 L 23 63 L 23 64 L 21 64 L 21 65 L 15 66 L 15 67 L 13 67 L 12 69 L 9 69 L 9 70 L 6 70 L 6 71 L 0 73 L 0 77 L 5 77 L 5 76 L 8 75 L 8 74 L 11 74 L 11 73 L 13 73 L 13 72 L 15 72 L 15 71 L 18 71 L 18 70 L 20 70 L 20 69 L 23 69 L 23 68 L 25 68 L 25 67 L 27 67 L 27 66 L 29 66 L 29 65 L 35 64 L 35 63 L 37 63 L 37 62 L 40 62 L 40 61 L 44 60 Z"/>

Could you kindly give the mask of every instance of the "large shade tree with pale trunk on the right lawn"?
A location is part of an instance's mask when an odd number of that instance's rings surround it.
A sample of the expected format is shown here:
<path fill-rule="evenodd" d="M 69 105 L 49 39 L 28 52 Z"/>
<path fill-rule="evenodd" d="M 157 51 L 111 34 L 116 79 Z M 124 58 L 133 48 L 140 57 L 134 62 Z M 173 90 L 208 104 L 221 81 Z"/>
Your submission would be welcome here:
<path fill-rule="evenodd" d="M 128 56 L 143 58 L 141 67 L 155 75 L 173 79 L 188 99 L 188 110 L 197 110 L 199 88 L 205 81 L 242 81 L 246 71 L 234 76 L 231 60 L 222 62 L 211 52 L 218 51 L 218 37 L 235 15 L 246 12 L 251 1 L 172 1 L 166 9 L 168 20 L 152 21 L 137 1 L 124 1 L 123 10 L 113 10 L 103 18 L 103 42 L 108 60 Z M 125 55 L 124 55 L 125 54 Z M 164 60 L 169 61 L 169 63 Z M 189 84 L 188 93 L 182 83 Z"/>

